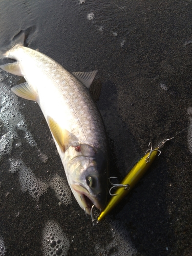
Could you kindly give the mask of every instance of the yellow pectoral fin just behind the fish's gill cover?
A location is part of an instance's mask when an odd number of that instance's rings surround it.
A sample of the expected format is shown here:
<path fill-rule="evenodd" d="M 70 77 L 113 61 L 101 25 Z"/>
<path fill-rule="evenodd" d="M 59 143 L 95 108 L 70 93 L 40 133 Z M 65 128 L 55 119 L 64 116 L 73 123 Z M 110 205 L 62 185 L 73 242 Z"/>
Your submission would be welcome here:
<path fill-rule="evenodd" d="M 62 152 L 66 152 L 71 145 L 77 145 L 77 138 L 72 133 L 65 129 L 61 129 L 61 127 L 50 116 L 48 116 L 47 120 L 53 137 Z"/>

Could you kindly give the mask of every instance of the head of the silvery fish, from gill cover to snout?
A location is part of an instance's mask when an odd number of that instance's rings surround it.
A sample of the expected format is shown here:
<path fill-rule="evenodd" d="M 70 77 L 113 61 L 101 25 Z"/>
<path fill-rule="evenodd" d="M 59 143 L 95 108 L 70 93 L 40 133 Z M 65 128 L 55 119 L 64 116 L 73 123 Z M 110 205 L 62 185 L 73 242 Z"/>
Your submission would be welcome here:
<path fill-rule="evenodd" d="M 108 158 L 88 144 L 70 146 L 65 153 L 65 170 L 71 190 L 88 214 L 94 204 L 103 210 L 108 195 Z"/>

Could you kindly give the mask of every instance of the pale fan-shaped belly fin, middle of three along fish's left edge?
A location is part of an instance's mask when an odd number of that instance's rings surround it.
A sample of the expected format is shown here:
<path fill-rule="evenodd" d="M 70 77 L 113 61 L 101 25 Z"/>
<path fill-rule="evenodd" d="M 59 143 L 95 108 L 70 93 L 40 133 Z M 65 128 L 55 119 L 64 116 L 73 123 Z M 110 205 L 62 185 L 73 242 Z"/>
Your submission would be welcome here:
<path fill-rule="evenodd" d="M 12 87 L 11 91 L 24 99 L 37 101 L 37 93 L 27 82 L 20 83 L 18 86 Z"/>

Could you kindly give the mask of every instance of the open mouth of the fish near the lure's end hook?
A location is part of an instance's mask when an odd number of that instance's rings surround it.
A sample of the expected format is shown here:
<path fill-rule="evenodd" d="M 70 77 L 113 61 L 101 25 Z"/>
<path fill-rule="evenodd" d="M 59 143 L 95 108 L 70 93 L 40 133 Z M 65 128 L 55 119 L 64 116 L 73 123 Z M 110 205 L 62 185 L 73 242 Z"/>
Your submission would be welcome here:
<path fill-rule="evenodd" d="M 95 202 L 95 198 L 92 198 L 86 188 L 79 184 L 72 184 L 71 186 L 79 194 L 81 199 L 80 206 L 87 212 L 87 214 L 90 215 L 90 211 L 93 205 L 95 205 L 98 209 L 100 208 L 98 202 Z"/>

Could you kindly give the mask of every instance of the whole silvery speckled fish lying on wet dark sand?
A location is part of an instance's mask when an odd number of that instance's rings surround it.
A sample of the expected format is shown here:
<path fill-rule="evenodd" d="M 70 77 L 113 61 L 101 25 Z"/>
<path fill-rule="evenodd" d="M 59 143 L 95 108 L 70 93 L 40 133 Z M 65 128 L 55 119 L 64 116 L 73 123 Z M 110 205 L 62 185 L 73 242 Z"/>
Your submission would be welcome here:
<path fill-rule="evenodd" d="M 102 210 L 108 194 L 109 153 L 101 115 L 89 88 L 97 74 L 71 73 L 52 58 L 25 47 L 20 31 L 0 58 L 15 62 L 0 68 L 26 82 L 11 90 L 17 96 L 36 101 L 44 114 L 79 206 L 90 215 L 95 205 Z"/>

